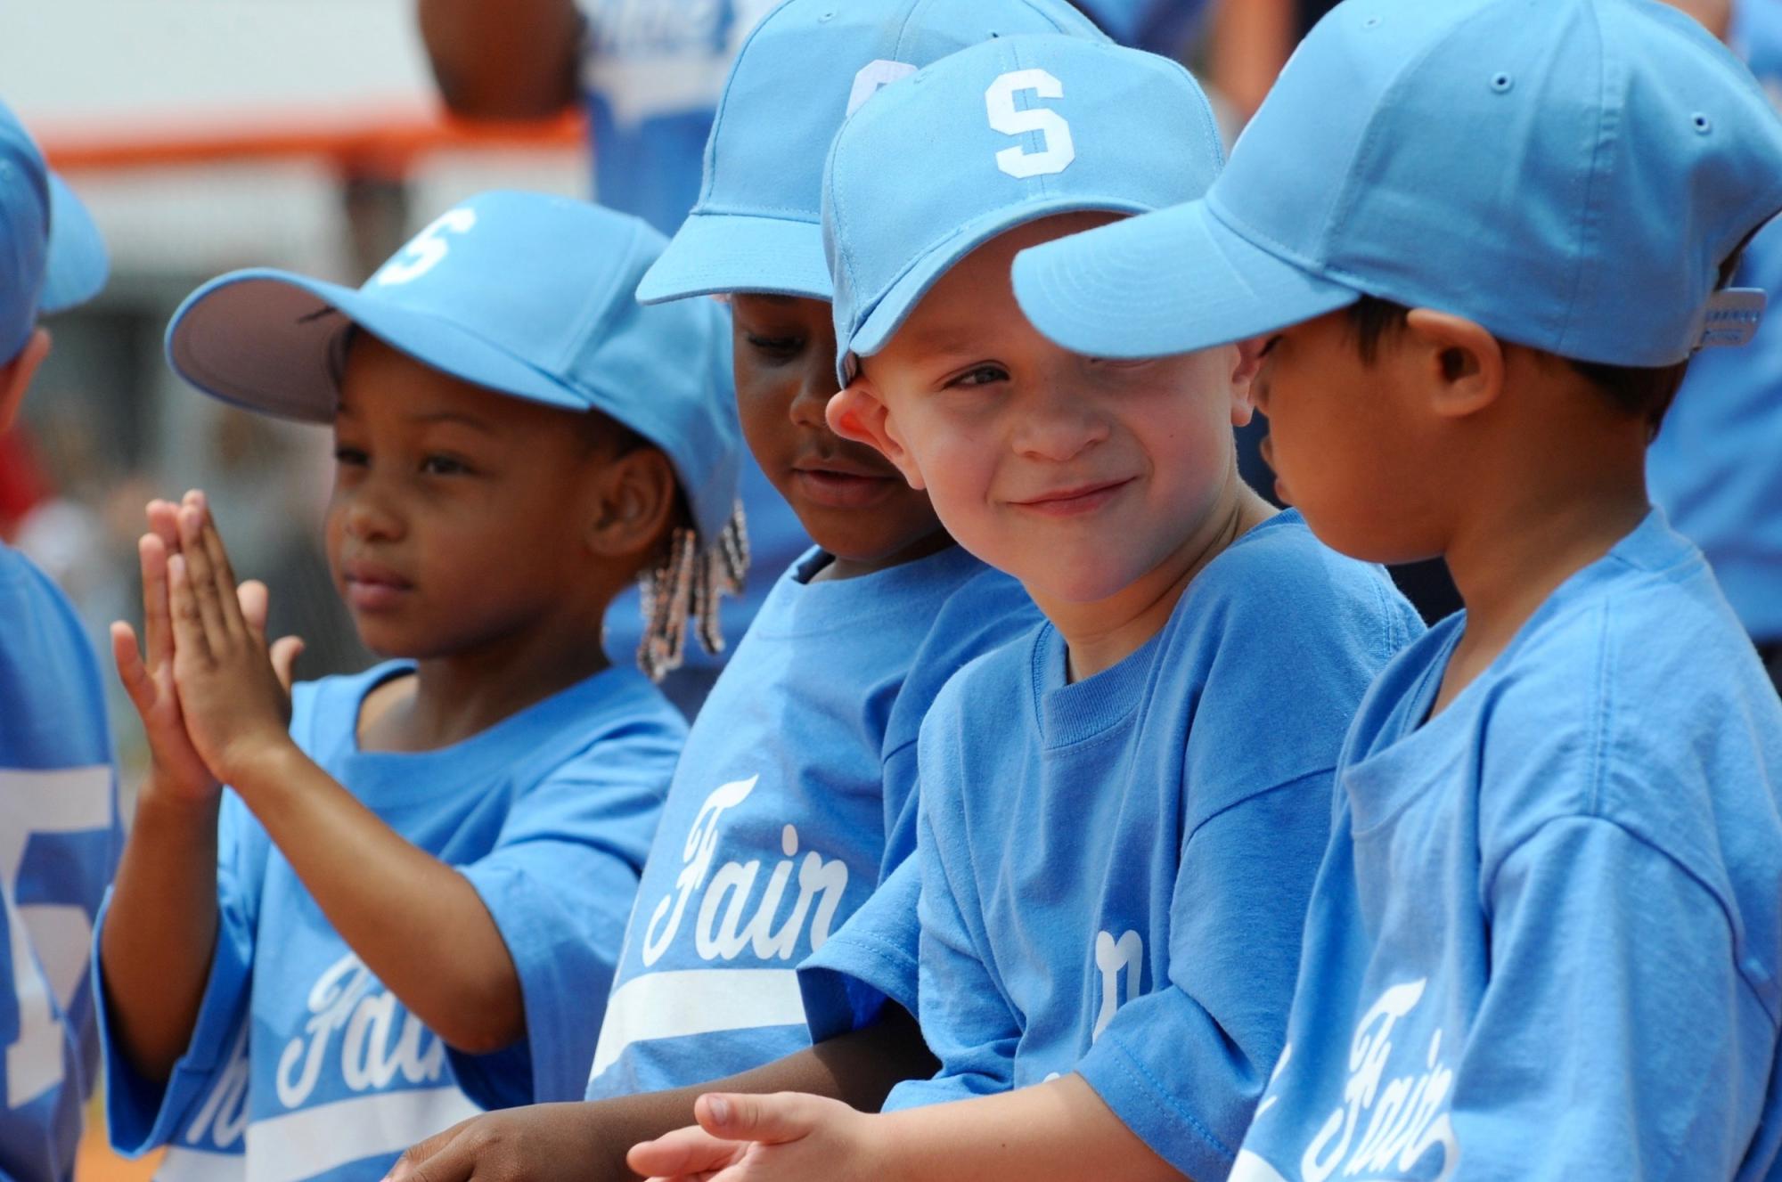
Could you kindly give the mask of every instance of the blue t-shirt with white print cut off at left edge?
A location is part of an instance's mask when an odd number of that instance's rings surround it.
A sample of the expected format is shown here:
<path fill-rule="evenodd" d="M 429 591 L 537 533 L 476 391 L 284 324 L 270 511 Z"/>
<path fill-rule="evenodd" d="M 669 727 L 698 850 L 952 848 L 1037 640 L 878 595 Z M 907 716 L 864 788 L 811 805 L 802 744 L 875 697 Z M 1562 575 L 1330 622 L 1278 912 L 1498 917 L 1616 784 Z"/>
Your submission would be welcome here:
<path fill-rule="evenodd" d="M 119 844 L 93 648 L 62 593 L 0 545 L 0 1177 L 73 1177 L 98 1065 L 87 959 Z"/>

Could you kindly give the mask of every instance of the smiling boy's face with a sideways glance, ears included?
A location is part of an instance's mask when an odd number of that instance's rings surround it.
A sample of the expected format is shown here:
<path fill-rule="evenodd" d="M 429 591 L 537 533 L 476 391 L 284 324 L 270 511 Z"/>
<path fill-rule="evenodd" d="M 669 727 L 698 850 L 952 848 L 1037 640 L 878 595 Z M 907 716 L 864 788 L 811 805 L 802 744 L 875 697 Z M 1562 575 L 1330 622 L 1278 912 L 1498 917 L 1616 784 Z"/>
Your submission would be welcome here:
<path fill-rule="evenodd" d="M 1108 219 L 1050 217 L 969 255 L 834 411 L 1041 607 L 1105 600 L 1171 563 L 1235 479 L 1231 425 L 1249 418 L 1235 347 L 1103 361 L 1021 315 L 1016 253 Z"/>

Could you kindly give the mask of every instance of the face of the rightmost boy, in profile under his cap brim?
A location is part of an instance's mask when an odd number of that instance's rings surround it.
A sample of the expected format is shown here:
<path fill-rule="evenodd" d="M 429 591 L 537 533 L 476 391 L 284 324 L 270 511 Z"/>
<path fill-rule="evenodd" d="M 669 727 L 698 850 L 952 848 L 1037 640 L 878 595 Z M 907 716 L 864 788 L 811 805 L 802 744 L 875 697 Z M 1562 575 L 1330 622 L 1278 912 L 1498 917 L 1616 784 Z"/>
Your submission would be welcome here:
<path fill-rule="evenodd" d="M 1418 354 L 1388 333 L 1363 361 L 1347 310 L 1274 333 L 1262 351 L 1253 393 L 1269 417 L 1263 457 L 1278 497 L 1344 554 L 1374 563 L 1435 554 L 1431 459 L 1445 443 L 1417 397 Z"/>

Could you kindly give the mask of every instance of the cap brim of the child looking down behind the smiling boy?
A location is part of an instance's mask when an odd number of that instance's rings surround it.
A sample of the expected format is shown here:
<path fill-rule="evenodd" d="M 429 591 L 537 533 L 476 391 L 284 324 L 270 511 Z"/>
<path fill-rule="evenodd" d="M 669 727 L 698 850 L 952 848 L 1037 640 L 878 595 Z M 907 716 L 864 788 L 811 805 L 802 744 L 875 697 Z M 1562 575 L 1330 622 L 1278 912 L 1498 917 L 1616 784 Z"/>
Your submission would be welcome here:
<path fill-rule="evenodd" d="M 638 283 L 638 303 L 763 292 L 829 301 L 834 288 L 816 223 L 691 214 Z"/>

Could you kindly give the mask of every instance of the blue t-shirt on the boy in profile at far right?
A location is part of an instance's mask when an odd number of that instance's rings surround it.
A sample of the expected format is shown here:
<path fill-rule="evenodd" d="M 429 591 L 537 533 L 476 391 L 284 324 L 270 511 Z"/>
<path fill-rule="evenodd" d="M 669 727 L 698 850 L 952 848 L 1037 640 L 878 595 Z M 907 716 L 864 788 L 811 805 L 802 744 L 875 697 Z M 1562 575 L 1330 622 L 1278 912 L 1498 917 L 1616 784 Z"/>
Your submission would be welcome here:
<path fill-rule="evenodd" d="M 1356 717 L 1231 1177 L 1775 1177 L 1782 705 L 1707 564 L 1654 513 L 1431 719 L 1463 628 Z"/>

